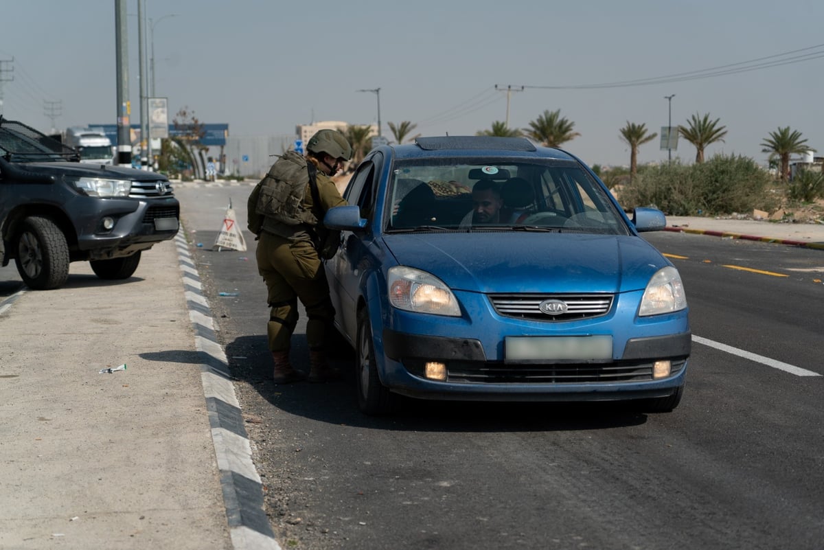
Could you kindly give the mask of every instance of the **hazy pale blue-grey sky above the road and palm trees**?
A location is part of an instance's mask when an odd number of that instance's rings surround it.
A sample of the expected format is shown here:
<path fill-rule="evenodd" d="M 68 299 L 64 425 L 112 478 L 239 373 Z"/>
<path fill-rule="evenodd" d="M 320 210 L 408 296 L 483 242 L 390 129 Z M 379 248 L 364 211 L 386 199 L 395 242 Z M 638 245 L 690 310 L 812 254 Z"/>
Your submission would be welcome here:
<path fill-rule="evenodd" d="M 118 1 L 0 0 L 3 116 L 48 132 L 115 124 Z M 124 4 L 139 122 L 138 0 Z M 824 154 L 820 0 L 142 6 L 147 95 L 153 51 L 156 95 L 168 99 L 170 118 L 186 108 L 204 123 L 228 124 L 231 136 L 280 137 L 321 120 L 377 124 L 378 112 L 390 139 L 388 123 L 407 120 L 414 133 L 474 135 L 507 118 L 527 128 L 560 110 L 580 133 L 566 150 L 590 165 L 628 165 L 627 123 L 660 136 L 670 117 L 677 126 L 709 114 L 728 133 L 707 157 L 764 165 L 761 143 L 787 126 Z M 658 138 L 639 149 L 640 163 L 667 158 Z M 672 158 L 690 164 L 695 147 L 681 139 Z"/>

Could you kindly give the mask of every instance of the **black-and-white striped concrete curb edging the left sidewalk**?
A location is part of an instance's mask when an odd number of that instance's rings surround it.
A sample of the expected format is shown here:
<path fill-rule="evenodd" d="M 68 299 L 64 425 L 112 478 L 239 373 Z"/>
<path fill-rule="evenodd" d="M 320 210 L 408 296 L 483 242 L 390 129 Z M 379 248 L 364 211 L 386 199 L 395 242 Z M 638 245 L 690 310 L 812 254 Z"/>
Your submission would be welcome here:
<path fill-rule="evenodd" d="M 215 336 L 208 301 L 182 228 L 175 242 L 195 349 L 203 358 L 201 379 L 232 545 L 235 550 L 281 550 L 263 508 L 263 483 L 251 459 L 226 353 Z"/>

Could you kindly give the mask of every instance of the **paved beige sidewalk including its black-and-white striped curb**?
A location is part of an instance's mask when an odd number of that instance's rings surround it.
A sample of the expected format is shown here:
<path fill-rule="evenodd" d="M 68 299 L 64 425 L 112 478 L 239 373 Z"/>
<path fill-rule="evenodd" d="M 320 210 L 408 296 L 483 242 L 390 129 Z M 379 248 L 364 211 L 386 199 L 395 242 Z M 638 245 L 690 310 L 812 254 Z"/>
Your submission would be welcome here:
<path fill-rule="evenodd" d="M 0 548 L 279 548 L 187 255 L 0 304 Z"/>

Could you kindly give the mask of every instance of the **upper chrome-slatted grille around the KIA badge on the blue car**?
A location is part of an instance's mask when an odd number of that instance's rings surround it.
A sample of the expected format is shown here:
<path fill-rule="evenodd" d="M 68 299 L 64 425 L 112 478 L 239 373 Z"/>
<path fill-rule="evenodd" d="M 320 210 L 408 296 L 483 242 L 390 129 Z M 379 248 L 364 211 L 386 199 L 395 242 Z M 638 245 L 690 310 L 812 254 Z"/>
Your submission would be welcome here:
<path fill-rule="evenodd" d="M 557 322 L 591 319 L 606 315 L 612 307 L 612 294 L 490 294 L 489 300 L 498 315 L 515 319 Z M 559 300 L 567 305 L 566 312 L 547 315 L 541 302 Z"/>

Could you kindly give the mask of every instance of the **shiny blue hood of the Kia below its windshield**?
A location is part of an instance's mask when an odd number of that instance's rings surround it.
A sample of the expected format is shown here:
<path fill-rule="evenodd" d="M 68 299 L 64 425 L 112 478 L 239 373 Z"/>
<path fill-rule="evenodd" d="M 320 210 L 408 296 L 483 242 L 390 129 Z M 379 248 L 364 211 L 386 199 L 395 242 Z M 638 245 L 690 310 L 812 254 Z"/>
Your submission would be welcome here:
<path fill-rule="evenodd" d="M 397 262 L 453 290 L 625 292 L 643 290 L 669 265 L 637 236 L 485 232 L 384 235 Z"/>

